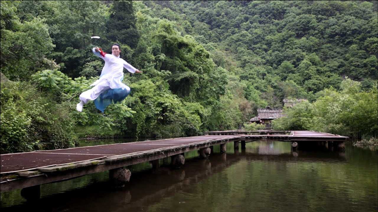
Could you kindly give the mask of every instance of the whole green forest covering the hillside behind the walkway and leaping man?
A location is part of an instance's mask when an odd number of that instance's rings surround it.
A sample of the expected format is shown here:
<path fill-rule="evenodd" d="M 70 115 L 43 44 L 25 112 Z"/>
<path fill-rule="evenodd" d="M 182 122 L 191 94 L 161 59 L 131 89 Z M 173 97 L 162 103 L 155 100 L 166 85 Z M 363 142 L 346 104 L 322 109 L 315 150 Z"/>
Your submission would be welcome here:
<path fill-rule="evenodd" d="M 181 137 L 245 128 L 378 136 L 377 1 L 1 1 L 1 154 L 79 138 Z M 99 36 L 100 39 L 91 39 Z M 79 94 L 111 52 L 131 94 L 104 113 Z"/>

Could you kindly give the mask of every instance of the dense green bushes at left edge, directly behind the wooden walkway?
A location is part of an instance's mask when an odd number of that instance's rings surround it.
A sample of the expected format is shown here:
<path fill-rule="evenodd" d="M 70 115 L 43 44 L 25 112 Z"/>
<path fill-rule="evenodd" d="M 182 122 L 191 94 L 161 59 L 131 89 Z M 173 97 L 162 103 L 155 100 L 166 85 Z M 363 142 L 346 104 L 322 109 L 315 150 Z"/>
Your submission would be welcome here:
<path fill-rule="evenodd" d="M 30 84 L 2 83 L 1 153 L 73 147 L 69 111 L 67 102 L 52 103 Z"/>

